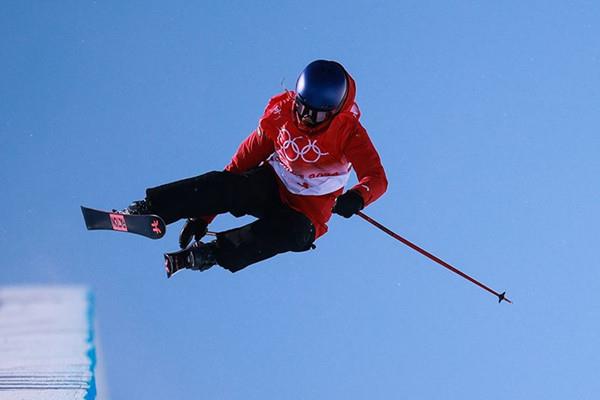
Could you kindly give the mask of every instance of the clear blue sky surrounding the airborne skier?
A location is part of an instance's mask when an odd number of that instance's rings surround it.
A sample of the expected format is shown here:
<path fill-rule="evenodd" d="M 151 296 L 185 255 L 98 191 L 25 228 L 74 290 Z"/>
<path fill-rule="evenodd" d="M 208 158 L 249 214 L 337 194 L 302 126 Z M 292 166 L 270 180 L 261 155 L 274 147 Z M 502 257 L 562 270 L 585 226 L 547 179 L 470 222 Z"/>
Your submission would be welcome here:
<path fill-rule="evenodd" d="M 368 214 L 514 305 L 359 218 L 171 280 L 181 223 L 85 230 L 222 168 L 316 58 L 387 169 Z M 595 398 L 599 127 L 595 1 L 3 1 L 0 284 L 89 285 L 115 399 Z"/>

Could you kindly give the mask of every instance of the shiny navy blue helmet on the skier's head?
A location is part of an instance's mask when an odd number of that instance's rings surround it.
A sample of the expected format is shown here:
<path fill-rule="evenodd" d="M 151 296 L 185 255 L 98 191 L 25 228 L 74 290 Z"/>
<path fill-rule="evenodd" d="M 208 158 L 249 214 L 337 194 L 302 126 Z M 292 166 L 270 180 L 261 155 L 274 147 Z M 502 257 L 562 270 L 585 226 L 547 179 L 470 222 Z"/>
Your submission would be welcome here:
<path fill-rule="evenodd" d="M 304 68 L 296 82 L 298 119 L 315 126 L 337 113 L 348 92 L 346 70 L 335 61 L 316 60 Z"/>

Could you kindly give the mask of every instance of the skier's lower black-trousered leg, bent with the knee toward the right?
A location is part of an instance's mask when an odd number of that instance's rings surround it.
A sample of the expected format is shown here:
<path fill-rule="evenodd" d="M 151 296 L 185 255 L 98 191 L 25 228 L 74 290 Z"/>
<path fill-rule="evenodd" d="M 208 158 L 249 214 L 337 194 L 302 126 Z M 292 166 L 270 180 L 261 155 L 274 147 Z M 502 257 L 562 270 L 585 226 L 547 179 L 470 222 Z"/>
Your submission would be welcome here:
<path fill-rule="evenodd" d="M 306 251 L 314 240 L 312 222 L 282 206 L 251 224 L 217 234 L 214 256 L 218 265 L 237 272 L 276 254 Z"/>

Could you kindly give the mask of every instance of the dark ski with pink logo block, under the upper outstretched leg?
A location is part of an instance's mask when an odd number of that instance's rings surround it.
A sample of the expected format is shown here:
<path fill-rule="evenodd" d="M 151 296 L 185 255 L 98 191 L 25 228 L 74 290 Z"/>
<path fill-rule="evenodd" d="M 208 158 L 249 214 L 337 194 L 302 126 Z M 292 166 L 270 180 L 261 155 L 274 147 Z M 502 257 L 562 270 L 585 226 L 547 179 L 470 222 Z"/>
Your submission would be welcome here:
<path fill-rule="evenodd" d="M 85 226 L 88 230 L 129 232 L 150 239 L 160 239 L 167 227 L 158 215 L 131 215 L 118 211 L 95 210 L 81 206 Z"/>

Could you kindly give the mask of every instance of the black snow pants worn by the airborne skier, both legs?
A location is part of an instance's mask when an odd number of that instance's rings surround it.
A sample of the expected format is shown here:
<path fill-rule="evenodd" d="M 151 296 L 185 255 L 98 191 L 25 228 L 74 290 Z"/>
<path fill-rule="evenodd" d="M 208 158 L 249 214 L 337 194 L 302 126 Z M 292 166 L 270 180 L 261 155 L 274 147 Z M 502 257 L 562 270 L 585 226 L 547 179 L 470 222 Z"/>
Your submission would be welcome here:
<path fill-rule="evenodd" d="M 312 222 L 281 201 L 276 180 L 269 165 L 242 174 L 213 171 L 147 189 L 146 199 L 167 224 L 227 212 L 258 218 L 217 233 L 217 264 L 236 272 L 276 254 L 306 251 L 315 240 Z"/>

